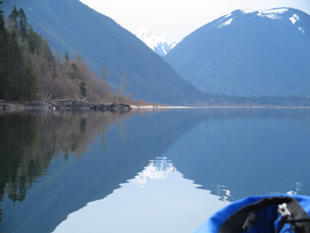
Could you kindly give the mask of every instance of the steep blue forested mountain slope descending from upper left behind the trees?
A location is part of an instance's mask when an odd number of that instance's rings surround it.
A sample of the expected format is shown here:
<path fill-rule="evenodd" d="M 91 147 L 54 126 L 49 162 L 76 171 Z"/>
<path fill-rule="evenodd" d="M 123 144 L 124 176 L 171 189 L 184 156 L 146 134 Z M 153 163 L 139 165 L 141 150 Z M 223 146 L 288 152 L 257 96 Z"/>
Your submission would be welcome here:
<path fill-rule="evenodd" d="M 54 53 L 63 57 L 68 51 L 71 58 L 80 52 L 98 73 L 105 65 L 107 81 L 116 90 L 125 74 L 124 94 L 134 99 L 180 104 L 201 98 L 200 91 L 135 35 L 78 0 L 4 1 L 4 16 L 14 5 L 23 8 L 29 24 L 47 38 Z"/>

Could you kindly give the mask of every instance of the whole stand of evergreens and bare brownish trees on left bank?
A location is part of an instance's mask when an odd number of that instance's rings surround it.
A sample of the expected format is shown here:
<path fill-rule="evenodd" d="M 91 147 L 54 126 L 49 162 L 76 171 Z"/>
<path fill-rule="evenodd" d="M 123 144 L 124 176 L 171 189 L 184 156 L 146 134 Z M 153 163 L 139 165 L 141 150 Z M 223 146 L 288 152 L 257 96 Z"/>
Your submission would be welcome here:
<path fill-rule="evenodd" d="M 47 39 L 28 24 L 22 8 L 17 10 L 14 6 L 7 21 L 1 11 L 0 38 L 0 99 L 31 101 L 87 96 L 93 101 L 120 100 L 118 93 L 83 61 L 81 53 L 75 53 L 72 59 L 66 51 L 63 58 L 58 53 L 53 55 Z"/>

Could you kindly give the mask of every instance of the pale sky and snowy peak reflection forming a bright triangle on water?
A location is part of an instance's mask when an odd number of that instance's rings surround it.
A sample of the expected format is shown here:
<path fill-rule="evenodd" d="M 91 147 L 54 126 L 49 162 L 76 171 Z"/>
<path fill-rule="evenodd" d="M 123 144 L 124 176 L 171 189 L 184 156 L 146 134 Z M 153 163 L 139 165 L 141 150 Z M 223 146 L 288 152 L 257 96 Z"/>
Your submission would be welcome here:
<path fill-rule="evenodd" d="M 69 214 L 54 233 L 187 233 L 227 205 L 210 191 L 196 189 L 199 185 L 184 179 L 166 157 L 151 161 L 112 194 Z"/>

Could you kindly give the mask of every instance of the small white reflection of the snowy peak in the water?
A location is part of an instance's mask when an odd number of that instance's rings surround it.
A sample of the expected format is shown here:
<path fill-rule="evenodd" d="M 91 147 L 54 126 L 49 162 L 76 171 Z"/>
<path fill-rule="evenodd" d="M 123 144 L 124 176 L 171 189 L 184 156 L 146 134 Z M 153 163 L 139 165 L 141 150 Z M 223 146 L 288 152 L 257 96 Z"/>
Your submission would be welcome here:
<path fill-rule="evenodd" d="M 156 160 L 151 162 L 144 170 L 139 172 L 135 179 L 129 182 L 138 184 L 139 188 L 144 188 L 144 184 L 148 183 L 150 179 L 165 179 L 169 173 L 176 171 L 171 160 L 166 160 L 166 157 L 156 157 Z"/>

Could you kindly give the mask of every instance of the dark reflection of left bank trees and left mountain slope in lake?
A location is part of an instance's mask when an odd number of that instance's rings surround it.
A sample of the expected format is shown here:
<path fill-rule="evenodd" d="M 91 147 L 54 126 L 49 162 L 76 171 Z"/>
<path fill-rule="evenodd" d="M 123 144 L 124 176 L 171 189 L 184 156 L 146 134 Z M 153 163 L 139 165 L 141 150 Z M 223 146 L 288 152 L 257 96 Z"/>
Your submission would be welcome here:
<path fill-rule="evenodd" d="M 184 124 L 189 115 L 0 112 L 1 231 L 53 231 L 69 213 L 103 199 L 134 177 L 150 158 L 200 121 L 196 116 Z M 12 191 L 10 182 L 16 187 Z M 24 196 L 15 201 L 11 193 Z"/>

